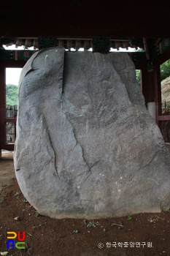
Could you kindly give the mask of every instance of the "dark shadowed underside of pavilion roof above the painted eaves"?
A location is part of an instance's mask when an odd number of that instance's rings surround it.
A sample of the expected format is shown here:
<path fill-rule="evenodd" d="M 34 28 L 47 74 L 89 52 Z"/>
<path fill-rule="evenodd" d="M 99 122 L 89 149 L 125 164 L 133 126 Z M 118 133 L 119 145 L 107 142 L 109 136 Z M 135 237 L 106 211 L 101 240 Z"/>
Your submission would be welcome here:
<path fill-rule="evenodd" d="M 169 0 L 1 0 L 0 37 L 166 38 L 169 15 Z"/>

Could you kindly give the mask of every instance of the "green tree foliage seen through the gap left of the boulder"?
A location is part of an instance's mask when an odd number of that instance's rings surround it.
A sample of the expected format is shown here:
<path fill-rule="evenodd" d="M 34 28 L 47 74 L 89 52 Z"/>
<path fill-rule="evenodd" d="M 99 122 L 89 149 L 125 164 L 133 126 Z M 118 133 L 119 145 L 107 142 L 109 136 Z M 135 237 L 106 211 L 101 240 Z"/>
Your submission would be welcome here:
<path fill-rule="evenodd" d="M 13 84 L 6 85 L 6 104 L 17 105 L 18 98 L 18 86 Z"/>

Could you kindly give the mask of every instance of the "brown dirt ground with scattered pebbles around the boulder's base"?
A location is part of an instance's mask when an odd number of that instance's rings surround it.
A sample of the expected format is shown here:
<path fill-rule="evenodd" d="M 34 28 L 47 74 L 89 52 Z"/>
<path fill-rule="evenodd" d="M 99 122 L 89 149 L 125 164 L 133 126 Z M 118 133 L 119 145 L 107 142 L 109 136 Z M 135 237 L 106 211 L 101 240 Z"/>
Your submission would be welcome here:
<path fill-rule="evenodd" d="M 0 159 L 0 252 L 10 256 L 170 255 L 169 211 L 91 220 L 40 216 L 20 192 L 12 152 Z M 9 231 L 26 233 L 25 249 L 7 249 Z"/>

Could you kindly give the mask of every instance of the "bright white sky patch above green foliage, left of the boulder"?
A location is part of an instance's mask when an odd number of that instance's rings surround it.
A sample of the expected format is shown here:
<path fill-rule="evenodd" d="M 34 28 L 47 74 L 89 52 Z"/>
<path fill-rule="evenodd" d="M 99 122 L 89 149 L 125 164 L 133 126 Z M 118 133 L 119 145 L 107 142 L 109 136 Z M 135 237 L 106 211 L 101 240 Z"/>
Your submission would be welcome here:
<path fill-rule="evenodd" d="M 18 86 L 20 79 L 21 68 L 7 68 L 6 69 L 6 84 L 12 83 Z"/>

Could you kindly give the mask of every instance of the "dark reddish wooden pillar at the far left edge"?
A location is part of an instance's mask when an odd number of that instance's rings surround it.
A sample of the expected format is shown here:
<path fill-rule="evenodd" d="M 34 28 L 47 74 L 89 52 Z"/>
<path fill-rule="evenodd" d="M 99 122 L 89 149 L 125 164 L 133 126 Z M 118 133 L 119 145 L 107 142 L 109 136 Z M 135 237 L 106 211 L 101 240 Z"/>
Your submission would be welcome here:
<path fill-rule="evenodd" d="M 1 145 L 7 142 L 6 127 L 4 120 L 6 117 L 5 105 L 6 105 L 6 86 L 5 86 L 5 67 L 3 64 L 0 66 L 0 157 L 1 157 Z"/>

